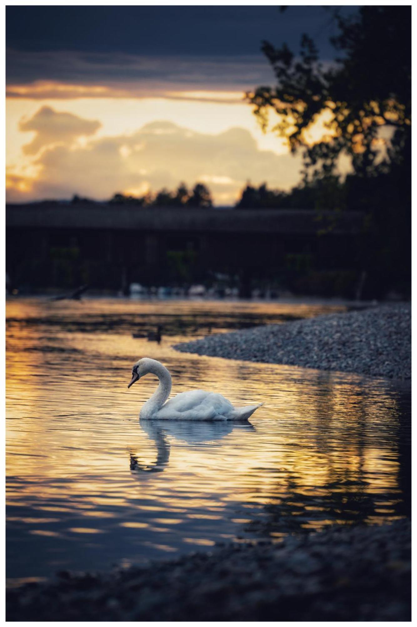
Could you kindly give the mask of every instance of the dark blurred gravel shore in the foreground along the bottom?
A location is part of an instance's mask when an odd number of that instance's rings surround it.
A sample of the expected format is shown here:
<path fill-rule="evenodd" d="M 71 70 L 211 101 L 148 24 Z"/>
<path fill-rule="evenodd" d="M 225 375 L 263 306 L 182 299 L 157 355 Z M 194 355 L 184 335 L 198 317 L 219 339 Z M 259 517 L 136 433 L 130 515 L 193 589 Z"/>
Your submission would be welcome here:
<path fill-rule="evenodd" d="M 411 525 L 334 529 L 8 591 L 8 621 L 409 621 Z"/>

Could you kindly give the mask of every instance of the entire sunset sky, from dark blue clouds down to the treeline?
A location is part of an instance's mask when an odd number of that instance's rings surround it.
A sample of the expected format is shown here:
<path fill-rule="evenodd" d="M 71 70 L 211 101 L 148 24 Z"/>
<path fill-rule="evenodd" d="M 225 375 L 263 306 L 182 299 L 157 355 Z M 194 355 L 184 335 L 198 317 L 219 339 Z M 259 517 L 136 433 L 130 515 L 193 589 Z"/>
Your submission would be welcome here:
<path fill-rule="evenodd" d="M 290 189 L 301 159 L 242 97 L 274 83 L 262 40 L 298 50 L 303 32 L 334 60 L 319 6 L 8 6 L 8 201 L 200 181 L 227 205 L 247 180 Z"/>

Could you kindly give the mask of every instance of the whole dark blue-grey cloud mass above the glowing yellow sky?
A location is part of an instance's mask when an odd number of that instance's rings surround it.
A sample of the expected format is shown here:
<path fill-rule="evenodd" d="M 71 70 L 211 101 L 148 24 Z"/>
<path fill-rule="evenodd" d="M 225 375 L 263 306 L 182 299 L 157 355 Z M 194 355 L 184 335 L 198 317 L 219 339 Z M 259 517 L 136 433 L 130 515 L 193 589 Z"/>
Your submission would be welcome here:
<path fill-rule="evenodd" d="M 271 80 L 263 40 L 297 50 L 307 32 L 334 58 L 331 7 L 8 6 L 8 85 L 178 83 L 252 88 Z M 357 7 L 341 8 L 353 13 Z M 120 85 L 119 85 L 120 87 Z M 155 87 L 155 85 L 154 85 Z"/>

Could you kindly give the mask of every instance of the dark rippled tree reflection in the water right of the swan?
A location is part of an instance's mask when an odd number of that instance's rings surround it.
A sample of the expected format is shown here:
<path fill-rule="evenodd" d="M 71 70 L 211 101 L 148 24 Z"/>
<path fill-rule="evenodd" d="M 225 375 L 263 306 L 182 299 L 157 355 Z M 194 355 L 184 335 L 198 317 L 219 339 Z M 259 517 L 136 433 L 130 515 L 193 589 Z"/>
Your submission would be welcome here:
<path fill-rule="evenodd" d="M 248 530 L 309 532 L 336 522 L 375 524 L 410 515 L 410 393 L 389 384 L 381 389 L 367 379 L 338 386 L 331 372 L 317 378 L 320 395 L 311 422 L 306 433 L 296 435 L 306 453 L 282 472 L 277 485 L 282 496 L 265 505 L 267 517 Z M 325 472 L 317 485 L 309 483 L 309 453 L 315 464 L 317 455 L 323 456 Z M 381 476 L 386 490 L 378 489 Z"/>

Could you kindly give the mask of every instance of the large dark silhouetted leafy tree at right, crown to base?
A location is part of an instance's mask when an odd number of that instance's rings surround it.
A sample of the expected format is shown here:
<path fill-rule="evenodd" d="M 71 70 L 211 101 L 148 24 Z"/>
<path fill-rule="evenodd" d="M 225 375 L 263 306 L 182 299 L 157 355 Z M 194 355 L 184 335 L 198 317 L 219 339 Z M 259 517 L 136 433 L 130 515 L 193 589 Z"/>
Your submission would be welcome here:
<path fill-rule="evenodd" d="M 264 129 L 269 112 L 278 113 L 273 130 L 292 152 L 301 150 L 304 189 L 298 192 L 312 191 L 320 208 L 333 199 L 334 208 L 366 213 L 366 236 L 353 254 L 368 285 L 379 286 L 374 295 L 385 287 L 404 293 L 411 266 L 411 7 L 362 6 L 348 19 L 336 9 L 334 19 L 339 34 L 331 41 L 344 53 L 337 63 L 320 63 L 307 35 L 299 56 L 286 44 L 264 42 L 277 85 L 257 88 L 247 101 Z M 319 115 L 327 115 L 328 132 L 311 144 L 306 129 Z M 354 174 L 341 186 L 342 154 Z"/>

